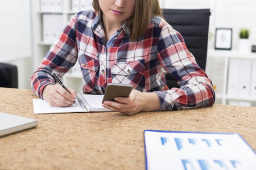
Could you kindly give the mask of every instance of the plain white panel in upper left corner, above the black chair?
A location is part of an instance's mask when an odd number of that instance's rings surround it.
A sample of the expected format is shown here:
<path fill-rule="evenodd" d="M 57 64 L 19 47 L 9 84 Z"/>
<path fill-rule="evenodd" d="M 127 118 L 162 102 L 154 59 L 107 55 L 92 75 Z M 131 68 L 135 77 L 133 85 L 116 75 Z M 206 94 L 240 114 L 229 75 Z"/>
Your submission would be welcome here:
<path fill-rule="evenodd" d="M 30 0 L 0 2 L 0 61 L 31 56 Z"/>

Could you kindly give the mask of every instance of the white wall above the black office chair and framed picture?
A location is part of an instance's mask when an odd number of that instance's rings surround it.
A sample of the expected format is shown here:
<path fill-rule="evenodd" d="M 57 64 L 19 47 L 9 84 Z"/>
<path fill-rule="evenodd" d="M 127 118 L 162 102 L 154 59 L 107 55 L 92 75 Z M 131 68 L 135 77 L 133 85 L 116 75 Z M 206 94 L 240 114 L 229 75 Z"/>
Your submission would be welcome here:
<path fill-rule="evenodd" d="M 256 45 L 256 1 L 255 0 L 159 0 L 162 8 L 210 8 L 209 31 L 213 34 L 209 47 L 214 48 L 216 28 L 232 28 L 232 49 L 238 48 L 241 28 L 250 30 L 251 45 Z"/>

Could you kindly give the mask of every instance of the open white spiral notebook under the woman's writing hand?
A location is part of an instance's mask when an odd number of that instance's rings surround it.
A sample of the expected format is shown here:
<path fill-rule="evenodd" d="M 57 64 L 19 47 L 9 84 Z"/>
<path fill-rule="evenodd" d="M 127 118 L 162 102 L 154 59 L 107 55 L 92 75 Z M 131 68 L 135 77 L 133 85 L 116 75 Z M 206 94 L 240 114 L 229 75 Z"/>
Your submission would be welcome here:
<path fill-rule="evenodd" d="M 51 107 L 47 101 L 33 99 L 34 114 L 77 113 L 77 112 L 113 112 L 102 107 L 104 95 L 77 94 L 76 104 L 69 107 Z"/>

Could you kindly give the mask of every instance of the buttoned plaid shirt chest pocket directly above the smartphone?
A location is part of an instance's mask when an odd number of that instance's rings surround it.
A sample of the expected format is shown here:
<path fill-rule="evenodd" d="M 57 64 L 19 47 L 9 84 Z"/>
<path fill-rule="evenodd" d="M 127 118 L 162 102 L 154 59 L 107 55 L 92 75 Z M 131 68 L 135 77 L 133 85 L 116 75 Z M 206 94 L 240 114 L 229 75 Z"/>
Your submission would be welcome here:
<path fill-rule="evenodd" d="M 144 59 L 128 62 L 117 62 L 111 66 L 112 83 L 131 84 L 140 90 L 145 86 Z"/>

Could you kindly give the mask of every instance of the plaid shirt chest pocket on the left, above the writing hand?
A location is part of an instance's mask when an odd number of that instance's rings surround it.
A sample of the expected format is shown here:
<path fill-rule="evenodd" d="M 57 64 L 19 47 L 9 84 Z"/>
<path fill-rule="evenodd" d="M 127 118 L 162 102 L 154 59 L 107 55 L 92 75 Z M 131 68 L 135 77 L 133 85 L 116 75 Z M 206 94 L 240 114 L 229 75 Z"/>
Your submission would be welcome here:
<path fill-rule="evenodd" d="M 82 71 L 82 84 L 85 92 L 92 92 L 95 88 L 94 80 L 100 63 L 97 59 L 82 54 L 79 57 L 79 64 Z"/>

